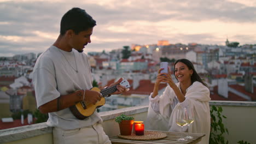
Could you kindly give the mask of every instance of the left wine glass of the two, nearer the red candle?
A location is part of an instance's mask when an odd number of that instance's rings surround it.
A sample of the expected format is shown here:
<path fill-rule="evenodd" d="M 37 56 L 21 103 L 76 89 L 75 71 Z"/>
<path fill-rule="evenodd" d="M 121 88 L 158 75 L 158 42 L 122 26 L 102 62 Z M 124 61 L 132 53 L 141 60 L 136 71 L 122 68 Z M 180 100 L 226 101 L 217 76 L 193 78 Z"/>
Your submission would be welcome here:
<path fill-rule="evenodd" d="M 187 125 L 187 115 L 186 115 L 185 109 L 178 109 L 177 110 L 176 123 L 180 127 L 182 127 L 182 131 L 183 131 L 183 127 L 185 125 Z M 183 136 L 181 135 L 181 138 L 179 138 L 177 141 L 187 141 L 187 139 L 184 139 Z"/>

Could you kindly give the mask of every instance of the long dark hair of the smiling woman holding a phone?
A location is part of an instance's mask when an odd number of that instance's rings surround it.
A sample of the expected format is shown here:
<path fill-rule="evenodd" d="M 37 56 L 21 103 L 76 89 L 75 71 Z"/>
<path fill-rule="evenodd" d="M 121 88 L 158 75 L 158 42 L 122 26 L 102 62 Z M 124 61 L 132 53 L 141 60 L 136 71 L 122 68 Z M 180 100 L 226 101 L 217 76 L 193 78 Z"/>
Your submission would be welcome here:
<path fill-rule="evenodd" d="M 195 67 L 194 67 L 193 63 L 191 63 L 188 59 L 185 59 L 185 58 L 183 58 L 183 59 L 178 59 L 178 60 L 174 63 L 174 71 L 173 71 L 174 73 L 173 73 L 173 74 L 175 74 L 175 65 L 176 65 L 176 63 L 178 63 L 178 62 L 184 63 L 185 65 L 188 66 L 189 70 L 190 70 L 190 69 L 193 70 L 193 74 L 191 75 L 191 83 L 194 83 L 195 81 L 199 81 L 199 82 L 201 82 L 203 85 L 205 85 L 206 87 L 208 87 L 208 86 L 206 85 L 206 83 L 202 81 L 201 77 L 196 73 L 196 70 L 195 70 Z M 176 76 L 175 76 L 175 77 L 176 77 Z M 178 80 L 177 77 L 176 77 L 176 80 Z"/>

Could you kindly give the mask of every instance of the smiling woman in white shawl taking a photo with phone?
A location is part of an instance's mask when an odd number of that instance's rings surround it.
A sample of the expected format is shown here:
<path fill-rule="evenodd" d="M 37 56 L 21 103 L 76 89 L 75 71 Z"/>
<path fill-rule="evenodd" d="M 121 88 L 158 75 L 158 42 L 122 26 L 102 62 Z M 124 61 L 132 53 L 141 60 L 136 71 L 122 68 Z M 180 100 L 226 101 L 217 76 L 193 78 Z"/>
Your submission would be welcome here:
<path fill-rule="evenodd" d="M 189 106 L 194 110 L 195 121 L 190 127 L 184 127 L 183 131 L 206 134 L 201 143 L 209 143 L 211 98 L 207 85 L 188 59 L 179 59 L 174 64 L 174 75 L 178 83 L 173 82 L 170 68 L 168 74 L 160 73 L 161 70 L 162 68 L 158 70 L 154 91 L 149 96 L 148 125 L 161 123 L 161 130 L 181 131 L 181 127 L 176 124 L 174 113 Z M 168 83 L 162 95 L 158 95 L 160 82 Z M 160 129 L 158 127 L 158 130 Z"/>

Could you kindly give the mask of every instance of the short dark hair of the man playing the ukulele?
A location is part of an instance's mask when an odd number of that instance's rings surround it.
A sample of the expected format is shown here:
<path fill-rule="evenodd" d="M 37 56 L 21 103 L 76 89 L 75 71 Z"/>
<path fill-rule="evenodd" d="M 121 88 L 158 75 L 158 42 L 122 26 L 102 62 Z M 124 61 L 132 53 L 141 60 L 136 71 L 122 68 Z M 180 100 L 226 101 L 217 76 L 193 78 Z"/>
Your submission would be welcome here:
<path fill-rule="evenodd" d="M 60 34 L 72 29 L 75 34 L 96 26 L 96 21 L 84 9 L 72 8 L 61 19 Z"/>

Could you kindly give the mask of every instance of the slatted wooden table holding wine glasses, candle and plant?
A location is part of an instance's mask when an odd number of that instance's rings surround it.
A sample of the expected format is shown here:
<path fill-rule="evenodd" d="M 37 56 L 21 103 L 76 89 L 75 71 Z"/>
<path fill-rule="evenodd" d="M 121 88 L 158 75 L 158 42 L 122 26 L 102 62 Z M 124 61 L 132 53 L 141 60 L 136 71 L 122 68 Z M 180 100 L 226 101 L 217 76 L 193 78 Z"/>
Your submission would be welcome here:
<path fill-rule="evenodd" d="M 152 130 L 150 130 L 152 131 Z M 190 136 L 194 137 L 193 139 L 190 139 L 188 141 L 179 142 L 177 139 L 183 136 L 187 136 L 188 133 L 178 133 L 178 132 L 171 132 L 171 131 L 161 131 L 162 133 L 165 133 L 167 135 L 166 138 L 160 139 L 160 140 L 150 140 L 150 141 L 139 141 L 139 140 L 126 140 L 122 139 L 118 136 L 112 136 L 109 137 L 109 140 L 112 142 L 112 144 L 145 144 L 145 143 L 152 143 L 152 144 L 161 144 L 161 143 L 188 143 L 193 144 L 200 142 L 202 137 L 205 136 L 205 134 L 195 134 L 195 133 L 189 133 Z"/>

